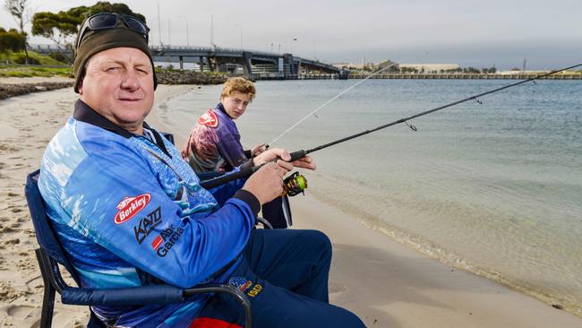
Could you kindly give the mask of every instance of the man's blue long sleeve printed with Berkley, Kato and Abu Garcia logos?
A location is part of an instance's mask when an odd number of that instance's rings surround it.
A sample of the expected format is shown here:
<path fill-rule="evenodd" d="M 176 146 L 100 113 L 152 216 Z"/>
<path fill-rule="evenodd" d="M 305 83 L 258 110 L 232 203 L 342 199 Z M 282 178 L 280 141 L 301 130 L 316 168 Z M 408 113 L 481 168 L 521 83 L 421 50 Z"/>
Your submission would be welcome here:
<path fill-rule="evenodd" d="M 175 202 L 164 184 L 185 186 L 170 168 L 147 158 L 131 142 L 102 136 L 64 145 L 75 142 L 75 137 L 56 139 L 43 160 L 39 187 L 49 216 L 57 223 L 142 271 L 184 288 L 209 278 L 243 250 L 259 211 L 252 194 L 235 194 L 218 208 L 212 195 L 194 184 L 192 193 Z M 175 165 L 192 172 L 177 151 L 175 155 Z M 65 168 L 62 163 L 71 164 Z M 84 257 L 79 255 L 78 260 L 85 261 Z M 95 281 L 112 279 L 112 273 L 103 269 L 109 263 L 95 257 L 85 262 L 87 276 Z"/>

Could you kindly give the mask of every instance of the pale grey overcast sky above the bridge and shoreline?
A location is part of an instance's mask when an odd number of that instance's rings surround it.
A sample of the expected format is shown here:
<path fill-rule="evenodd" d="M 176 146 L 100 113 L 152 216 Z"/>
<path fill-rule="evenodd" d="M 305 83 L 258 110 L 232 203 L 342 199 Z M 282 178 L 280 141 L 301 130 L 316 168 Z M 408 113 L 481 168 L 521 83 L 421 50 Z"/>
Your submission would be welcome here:
<path fill-rule="evenodd" d="M 29 0 L 29 7 L 32 12 L 56 13 L 96 3 Z M 327 63 L 390 59 L 403 64 L 495 66 L 499 70 L 521 68 L 524 60 L 531 70 L 582 63 L 582 0 L 124 3 L 145 15 L 154 45 L 161 41 L 176 47 L 209 47 L 212 39 L 217 47 L 288 52 Z M 0 26 L 16 26 L 4 7 Z M 39 37 L 29 42 L 50 43 Z"/>

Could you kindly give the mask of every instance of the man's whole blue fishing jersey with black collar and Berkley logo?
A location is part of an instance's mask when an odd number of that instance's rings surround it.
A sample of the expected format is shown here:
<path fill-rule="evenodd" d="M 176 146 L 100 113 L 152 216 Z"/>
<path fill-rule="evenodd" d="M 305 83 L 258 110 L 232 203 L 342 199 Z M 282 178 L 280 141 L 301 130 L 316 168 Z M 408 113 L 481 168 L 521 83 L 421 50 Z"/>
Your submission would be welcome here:
<path fill-rule="evenodd" d="M 144 129 L 131 134 L 78 100 L 45 151 L 40 193 L 81 287 L 227 281 L 242 260 L 259 202 L 240 190 L 243 179 L 203 189 L 174 145 Z M 187 326 L 208 298 L 92 309 L 110 325 Z"/>

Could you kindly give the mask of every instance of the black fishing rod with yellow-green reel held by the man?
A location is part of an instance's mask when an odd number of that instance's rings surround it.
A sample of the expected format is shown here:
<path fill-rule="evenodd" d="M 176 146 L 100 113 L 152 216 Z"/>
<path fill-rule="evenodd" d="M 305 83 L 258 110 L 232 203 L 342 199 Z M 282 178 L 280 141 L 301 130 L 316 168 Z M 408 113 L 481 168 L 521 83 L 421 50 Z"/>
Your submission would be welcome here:
<path fill-rule="evenodd" d="M 341 138 L 341 139 L 338 139 L 338 140 L 333 141 L 333 142 L 328 142 L 328 143 L 322 144 L 321 146 L 317 146 L 317 147 L 314 147 L 312 149 L 308 149 L 306 151 L 304 151 L 304 150 L 294 151 L 294 152 L 291 152 L 290 153 L 291 160 L 288 160 L 288 161 L 291 162 L 291 161 L 294 161 L 294 160 L 303 159 L 307 154 L 312 153 L 314 151 L 321 151 L 322 149 L 328 148 L 328 147 L 333 146 L 333 145 L 336 145 L 338 143 L 347 142 L 348 140 L 355 139 L 355 138 L 360 137 L 360 136 L 365 135 L 365 134 L 372 134 L 372 132 L 376 132 L 378 130 L 385 129 L 385 128 L 387 128 L 389 126 L 392 126 L 392 125 L 398 125 L 398 124 L 405 123 L 410 129 L 412 129 L 413 131 L 416 131 L 415 125 L 411 125 L 411 124 L 408 123 L 408 121 L 410 121 L 410 120 L 412 120 L 412 119 L 414 119 L 416 117 L 423 117 L 423 116 L 425 116 L 427 114 L 431 114 L 431 113 L 436 112 L 436 111 L 439 111 L 441 109 L 453 107 L 453 106 L 456 106 L 458 104 L 462 104 L 462 103 L 464 103 L 466 101 L 469 101 L 469 100 L 476 100 L 479 104 L 481 104 L 482 102 L 479 100 L 480 97 L 483 97 L 483 96 L 486 96 L 486 95 L 489 95 L 489 94 L 492 94 L 492 93 L 495 93 L 495 92 L 498 92 L 498 91 L 502 91 L 502 90 L 505 90 L 505 89 L 509 89 L 509 88 L 518 86 L 520 84 L 526 83 L 526 82 L 532 82 L 532 81 L 535 81 L 537 79 L 541 79 L 541 78 L 543 78 L 545 76 L 549 76 L 549 75 L 552 75 L 552 74 L 555 74 L 555 73 L 560 73 L 560 72 L 563 72 L 563 71 L 567 71 L 569 69 L 576 68 L 578 66 L 582 66 L 582 64 L 572 65 L 572 66 L 569 66 L 569 67 L 561 68 L 559 70 L 552 71 L 550 73 L 543 73 L 541 75 L 537 75 L 535 77 L 532 77 L 532 78 L 529 78 L 529 79 L 526 79 L 526 80 L 522 80 L 522 81 L 519 81 L 519 82 L 511 83 L 511 84 L 502 86 L 500 88 L 493 89 L 491 91 L 486 91 L 486 92 L 477 94 L 475 96 L 467 97 L 466 99 L 460 99 L 458 101 L 454 101 L 454 102 L 451 102 L 451 103 L 446 104 L 446 105 L 442 105 L 442 106 L 437 107 L 437 108 L 432 108 L 432 109 L 429 109 L 429 110 L 425 110 L 424 112 L 420 112 L 420 113 L 415 114 L 413 116 L 403 117 L 403 118 L 400 118 L 400 119 L 398 119 L 396 121 L 390 122 L 388 124 L 380 125 L 378 127 L 375 127 L 373 129 L 370 129 L 370 130 L 366 130 L 364 132 L 360 132 L 358 134 L 352 134 L 352 135 L 349 135 L 349 136 L 347 136 L 345 138 Z M 264 165 L 264 164 L 262 164 L 262 165 Z M 256 166 L 254 168 L 248 168 L 248 169 L 244 169 L 244 170 L 241 170 L 241 171 L 237 171 L 235 173 L 228 174 L 226 176 L 216 177 L 214 179 L 204 181 L 204 182 L 201 183 L 201 186 L 203 188 L 210 189 L 210 188 L 213 188 L 215 186 L 220 186 L 220 185 L 226 184 L 227 182 L 233 181 L 233 180 L 238 179 L 238 178 L 241 178 L 241 177 L 248 177 L 248 176 L 252 175 L 252 173 L 254 173 L 255 171 L 257 171 L 259 168 L 261 168 L 262 165 Z M 290 195 L 301 193 L 303 190 L 299 190 L 299 189 L 301 187 L 303 187 L 303 186 L 304 186 L 304 188 L 307 187 L 307 181 L 305 180 L 305 178 L 303 176 L 301 176 L 301 175 L 295 175 L 295 173 L 291 177 L 293 177 L 295 180 L 301 179 L 301 181 L 299 181 L 299 182 L 297 182 L 297 181 L 293 182 L 294 185 L 292 187 L 290 187 L 289 190 L 287 190 L 287 187 L 286 186 L 287 186 L 288 183 L 292 183 L 291 181 L 293 181 L 293 179 L 289 179 L 290 177 L 287 177 L 287 179 L 285 180 L 285 184 L 284 184 L 284 187 L 286 187 L 285 188 L 286 192 L 289 192 Z M 287 181 L 287 180 L 289 180 L 289 181 Z"/>

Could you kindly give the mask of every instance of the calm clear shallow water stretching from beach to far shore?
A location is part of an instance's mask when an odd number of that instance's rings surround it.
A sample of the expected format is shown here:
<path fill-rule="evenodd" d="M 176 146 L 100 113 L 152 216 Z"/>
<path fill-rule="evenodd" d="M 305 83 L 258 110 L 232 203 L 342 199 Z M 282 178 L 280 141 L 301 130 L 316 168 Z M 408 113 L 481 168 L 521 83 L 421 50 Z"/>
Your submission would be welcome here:
<path fill-rule="evenodd" d="M 257 82 L 237 120 L 243 143 L 271 142 L 355 81 Z M 275 145 L 310 149 L 508 81 L 373 80 Z M 176 134 L 220 86 L 160 109 Z M 540 81 L 312 154 L 308 193 L 372 229 L 582 315 L 582 82 Z M 296 201 L 295 201 L 296 202 Z"/>

